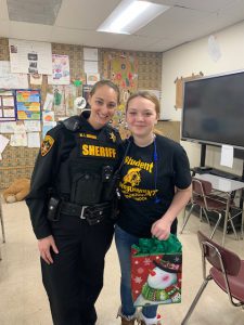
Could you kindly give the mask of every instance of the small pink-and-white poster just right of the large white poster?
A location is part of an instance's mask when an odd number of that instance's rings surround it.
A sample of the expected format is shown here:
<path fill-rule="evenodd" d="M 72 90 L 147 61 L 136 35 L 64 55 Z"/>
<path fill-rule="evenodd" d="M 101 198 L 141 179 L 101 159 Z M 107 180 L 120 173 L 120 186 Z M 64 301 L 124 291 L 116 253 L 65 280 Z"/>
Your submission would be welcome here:
<path fill-rule="evenodd" d="M 69 60 L 68 55 L 52 54 L 52 76 L 48 77 L 49 84 L 69 84 Z"/>

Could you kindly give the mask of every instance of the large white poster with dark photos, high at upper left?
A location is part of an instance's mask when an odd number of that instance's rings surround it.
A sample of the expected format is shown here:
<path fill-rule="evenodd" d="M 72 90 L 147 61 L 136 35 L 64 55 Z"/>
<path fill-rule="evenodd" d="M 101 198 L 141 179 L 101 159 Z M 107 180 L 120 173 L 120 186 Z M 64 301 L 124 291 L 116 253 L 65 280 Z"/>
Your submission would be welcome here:
<path fill-rule="evenodd" d="M 52 75 L 51 43 L 10 39 L 11 73 Z"/>

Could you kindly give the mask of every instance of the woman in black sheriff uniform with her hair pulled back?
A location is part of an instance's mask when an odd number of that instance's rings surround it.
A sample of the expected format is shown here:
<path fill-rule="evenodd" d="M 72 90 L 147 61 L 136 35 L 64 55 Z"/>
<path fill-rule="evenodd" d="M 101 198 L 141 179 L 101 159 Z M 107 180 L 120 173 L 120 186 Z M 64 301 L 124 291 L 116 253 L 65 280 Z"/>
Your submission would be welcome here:
<path fill-rule="evenodd" d="M 41 256 L 42 281 L 55 325 L 94 325 L 111 246 L 119 165 L 118 132 L 107 123 L 117 86 L 91 90 L 90 112 L 51 129 L 41 145 L 26 199 Z"/>

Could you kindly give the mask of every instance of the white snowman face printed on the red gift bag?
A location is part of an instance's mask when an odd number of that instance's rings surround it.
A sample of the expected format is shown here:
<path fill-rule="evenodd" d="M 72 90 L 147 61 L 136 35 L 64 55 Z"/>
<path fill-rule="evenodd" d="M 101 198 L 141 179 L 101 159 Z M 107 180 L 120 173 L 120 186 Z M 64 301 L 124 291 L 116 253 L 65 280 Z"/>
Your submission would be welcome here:
<path fill-rule="evenodd" d="M 166 289 L 177 283 L 177 274 L 169 273 L 159 268 L 150 271 L 147 284 L 153 289 Z"/>

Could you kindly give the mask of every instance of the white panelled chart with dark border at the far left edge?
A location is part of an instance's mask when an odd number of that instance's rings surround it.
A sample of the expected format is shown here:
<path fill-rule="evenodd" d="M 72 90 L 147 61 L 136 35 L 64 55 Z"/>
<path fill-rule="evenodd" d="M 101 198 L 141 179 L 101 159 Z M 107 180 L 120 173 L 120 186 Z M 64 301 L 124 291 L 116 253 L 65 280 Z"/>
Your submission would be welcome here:
<path fill-rule="evenodd" d="M 16 120 L 14 91 L 0 89 L 0 121 Z"/>

